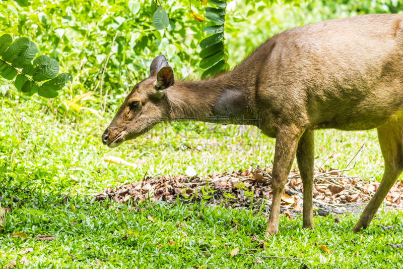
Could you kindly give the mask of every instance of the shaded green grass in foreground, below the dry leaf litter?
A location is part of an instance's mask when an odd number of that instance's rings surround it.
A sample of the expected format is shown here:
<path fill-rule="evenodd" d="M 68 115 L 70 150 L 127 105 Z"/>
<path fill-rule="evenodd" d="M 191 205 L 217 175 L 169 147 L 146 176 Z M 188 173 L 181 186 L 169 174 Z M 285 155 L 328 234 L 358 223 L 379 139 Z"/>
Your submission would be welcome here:
<path fill-rule="evenodd" d="M 141 203 L 132 208 L 110 201 L 100 203 L 88 196 L 63 197 L 44 195 L 40 189 L 2 188 L 2 193 L 19 201 L 12 203 L 12 213 L 7 211 L 5 235 L 0 236 L 0 266 L 12 260 L 18 262 L 23 256 L 32 268 L 403 266 L 401 249 L 388 245 L 401 243 L 401 211 L 381 211 L 362 234 L 351 232 L 358 219 L 356 214 L 341 216 L 339 221 L 332 215 L 315 217 L 314 230 L 302 229 L 300 218 L 282 216 L 280 234 L 265 238 L 265 215 L 256 216 L 245 208 L 164 202 Z M 394 230 L 385 231 L 380 224 L 393 225 Z M 10 236 L 14 233 L 26 234 L 26 238 Z M 34 239 L 37 235 L 55 239 L 38 241 Z M 266 249 L 258 247 L 260 242 L 253 238 L 263 240 Z M 28 247 L 32 247 L 31 252 L 21 254 Z M 231 257 L 228 253 L 235 248 L 249 256 Z"/>

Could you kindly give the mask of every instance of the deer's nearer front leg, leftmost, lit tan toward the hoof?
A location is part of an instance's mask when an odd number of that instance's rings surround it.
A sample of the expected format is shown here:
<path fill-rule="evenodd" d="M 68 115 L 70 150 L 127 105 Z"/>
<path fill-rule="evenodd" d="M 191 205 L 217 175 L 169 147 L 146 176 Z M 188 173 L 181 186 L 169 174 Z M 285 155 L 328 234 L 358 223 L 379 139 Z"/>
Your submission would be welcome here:
<path fill-rule="evenodd" d="M 277 132 L 272 174 L 273 201 L 265 233 L 267 237 L 279 232 L 281 196 L 290 174 L 302 132 L 303 130 L 297 127 L 287 127 Z"/>

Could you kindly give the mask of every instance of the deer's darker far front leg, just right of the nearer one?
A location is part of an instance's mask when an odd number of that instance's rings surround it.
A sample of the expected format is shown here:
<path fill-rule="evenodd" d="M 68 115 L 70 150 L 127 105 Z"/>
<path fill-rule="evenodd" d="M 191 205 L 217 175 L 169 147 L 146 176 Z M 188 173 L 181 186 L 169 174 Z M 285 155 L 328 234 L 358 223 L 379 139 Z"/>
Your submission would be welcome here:
<path fill-rule="evenodd" d="M 303 228 L 313 229 L 312 188 L 315 160 L 314 132 L 306 130 L 298 142 L 297 162 L 304 187 Z"/>

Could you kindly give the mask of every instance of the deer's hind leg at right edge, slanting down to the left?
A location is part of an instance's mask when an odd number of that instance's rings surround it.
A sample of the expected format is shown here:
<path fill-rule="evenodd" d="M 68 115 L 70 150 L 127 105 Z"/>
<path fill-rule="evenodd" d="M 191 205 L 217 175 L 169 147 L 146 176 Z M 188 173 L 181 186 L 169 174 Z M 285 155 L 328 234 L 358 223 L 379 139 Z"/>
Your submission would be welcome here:
<path fill-rule="evenodd" d="M 377 128 L 378 140 L 385 162 L 382 181 L 374 196 L 361 214 L 360 220 L 354 226 L 353 232 L 366 229 L 375 216 L 390 188 L 403 171 L 403 119 L 387 122 Z"/>

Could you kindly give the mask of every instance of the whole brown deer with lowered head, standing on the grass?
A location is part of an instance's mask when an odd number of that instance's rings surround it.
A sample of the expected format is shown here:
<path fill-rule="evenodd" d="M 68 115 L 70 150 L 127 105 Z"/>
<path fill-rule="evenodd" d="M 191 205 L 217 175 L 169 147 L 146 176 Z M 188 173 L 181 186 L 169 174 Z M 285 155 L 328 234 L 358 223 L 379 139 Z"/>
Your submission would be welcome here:
<path fill-rule="evenodd" d="M 403 171 L 403 15 L 363 15 L 297 27 L 259 46 L 232 71 L 178 81 L 164 56 L 120 106 L 102 142 L 116 147 L 156 121 L 259 116 L 276 138 L 273 203 L 266 236 L 279 231 L 280 201 L 294 160 L 303 181 L 303 227 L 313 228 L 314 130 L 377 128 L 382 182 L 353 228 L 367 228 Z"/>

